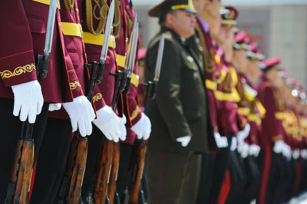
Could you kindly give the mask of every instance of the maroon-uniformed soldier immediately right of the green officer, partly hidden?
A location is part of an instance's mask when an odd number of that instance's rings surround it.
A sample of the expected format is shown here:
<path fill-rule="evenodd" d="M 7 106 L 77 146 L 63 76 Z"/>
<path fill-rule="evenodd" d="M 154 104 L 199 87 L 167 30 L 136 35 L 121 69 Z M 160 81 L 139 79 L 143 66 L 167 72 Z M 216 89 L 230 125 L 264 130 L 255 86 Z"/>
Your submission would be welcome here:
<path fill-rule="evenodd" d="M 218 124 L 222 123 L 222 118 L 217 117 L 220 102 L 216 100 L 214 95 L 217 87 L 215 76 L 217 66 L 215 64 L 214 58 L 215 42 L 212 39 L 212 35 L 217 35 L 221 28 L 220 2 L 218 0 L 194 0 L 193 4 L 197 11 L 195 30 L 199 38 L 200 46 L 204 53 L 204 68 L 206 76 L 205 85 L 208 96 L 208 112 L 211 119 L 210 126 L 212 125 L 213 127 L 213 134 L 217 147 L 225 149 L 225 147 L 228 146 L 228 141 L 222 139 L 221 134 L 218 131 Z M 215 173 L 215 169 L 213 167 L 213 153 L 203 154 L 200 188 L 197 203 L 211 203 L 210 200 L 215 200 L 215 202 L 217 201 L 221 184 L 213 184 L 213 175 Z M 216 187 L 212 188 L 212 185 L 215 185 Z"/>

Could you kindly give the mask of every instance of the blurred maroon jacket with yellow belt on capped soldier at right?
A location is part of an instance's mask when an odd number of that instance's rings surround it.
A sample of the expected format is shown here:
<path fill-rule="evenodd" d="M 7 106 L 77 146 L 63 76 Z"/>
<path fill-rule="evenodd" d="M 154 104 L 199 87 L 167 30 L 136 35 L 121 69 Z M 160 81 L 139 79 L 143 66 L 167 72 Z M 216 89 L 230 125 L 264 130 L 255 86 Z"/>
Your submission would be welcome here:
<path fill-rule="evenodd" d="M 259 85 L 258 98 L 266 109 L 266 115 L 261 123 L 262 145 L 272 146 L 275 141 L 283 140 L 283 119 L 280 116 L 283 114 L 284 104 L 279 98 L 279 90 L 267 78 L 262 79 Z"/>

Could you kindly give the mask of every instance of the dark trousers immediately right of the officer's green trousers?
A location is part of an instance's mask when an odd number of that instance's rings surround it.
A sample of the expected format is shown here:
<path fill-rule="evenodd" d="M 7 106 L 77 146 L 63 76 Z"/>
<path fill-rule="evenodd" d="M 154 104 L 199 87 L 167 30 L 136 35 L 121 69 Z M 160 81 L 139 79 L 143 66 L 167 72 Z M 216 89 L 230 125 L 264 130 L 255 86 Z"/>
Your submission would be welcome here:
<path fill-rule="evenodd" d="M 210 190 L 214 172 L 213 154 L 203 154 L 201 166 L 201 179 L 198 194 L 198 204 L 209 203 Z"/>

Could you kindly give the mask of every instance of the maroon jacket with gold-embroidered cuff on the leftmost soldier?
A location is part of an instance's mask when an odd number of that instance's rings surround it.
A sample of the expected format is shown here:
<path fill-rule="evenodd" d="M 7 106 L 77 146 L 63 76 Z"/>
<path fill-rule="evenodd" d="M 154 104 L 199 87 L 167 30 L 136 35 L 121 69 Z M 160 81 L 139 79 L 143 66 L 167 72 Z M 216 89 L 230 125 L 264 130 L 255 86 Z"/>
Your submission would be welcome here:
<path fill-rule="evenodd" d="M 34 57 L 43 55 L 49 5 L 32 0 L 7 1 L 2 4 L 1 11 L 6 16 L 0 24 L 6 31 L 2 36 L 2 47 L 6 49 L 0 51 L 0 97 L 13 98 L 10 86 L 36 79 Z M 70 83 L 78 81 L 78 77 L 73 65 L 66 63 L 69 56 L 64 52 L 59 10 L 56 12 L 48 74 L 41 80 L 42 94 L 46 102 L 71 102 L 82 95 L 82 89 L 79 86 L 70 88 Z"/>

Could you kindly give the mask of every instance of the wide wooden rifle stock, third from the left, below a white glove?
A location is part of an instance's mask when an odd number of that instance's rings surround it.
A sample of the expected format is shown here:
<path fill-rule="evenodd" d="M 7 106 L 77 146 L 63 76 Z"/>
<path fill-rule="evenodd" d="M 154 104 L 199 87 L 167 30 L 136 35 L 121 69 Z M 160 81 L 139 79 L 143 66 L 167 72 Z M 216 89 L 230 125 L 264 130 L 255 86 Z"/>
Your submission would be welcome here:
<path fill-rule="evenodd" d="M 112 167 L 113 142 L 107 140 L 101 141 L 99 149 L 101 149 L 101 151 L 98 153 L 102 156 L 98 169 L 94 200 L 95 203 L 104 204 L 107 199 L 108 181 Z"/>

